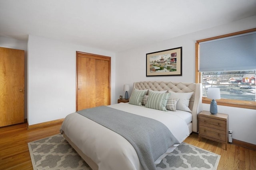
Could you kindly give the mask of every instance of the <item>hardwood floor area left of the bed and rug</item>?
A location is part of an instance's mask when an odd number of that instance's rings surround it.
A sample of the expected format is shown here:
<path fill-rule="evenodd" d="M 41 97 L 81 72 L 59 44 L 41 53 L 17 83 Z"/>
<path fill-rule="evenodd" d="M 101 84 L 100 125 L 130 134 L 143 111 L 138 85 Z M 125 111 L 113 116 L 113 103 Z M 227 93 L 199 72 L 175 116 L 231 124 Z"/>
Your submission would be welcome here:
<path fill-rule="evenodd" d="M 33 170 L 28 143 L 60 133 L 61 123 L 27 130 L 26 123 L 0 127 L 0 170 Z"/>

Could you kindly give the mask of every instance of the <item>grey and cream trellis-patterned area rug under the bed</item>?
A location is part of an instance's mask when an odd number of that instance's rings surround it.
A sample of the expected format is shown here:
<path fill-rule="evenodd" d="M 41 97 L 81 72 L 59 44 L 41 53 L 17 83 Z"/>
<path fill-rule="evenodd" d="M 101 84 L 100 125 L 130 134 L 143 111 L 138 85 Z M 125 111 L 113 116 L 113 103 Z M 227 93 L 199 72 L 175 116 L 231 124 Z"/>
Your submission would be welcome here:
<path fill-rule="evenodd" d="M 34 170 L 91 170 L 61 134 L 28 143 Z M 182 143 L 157 170 L 216 170 L 220 155 Z"/>

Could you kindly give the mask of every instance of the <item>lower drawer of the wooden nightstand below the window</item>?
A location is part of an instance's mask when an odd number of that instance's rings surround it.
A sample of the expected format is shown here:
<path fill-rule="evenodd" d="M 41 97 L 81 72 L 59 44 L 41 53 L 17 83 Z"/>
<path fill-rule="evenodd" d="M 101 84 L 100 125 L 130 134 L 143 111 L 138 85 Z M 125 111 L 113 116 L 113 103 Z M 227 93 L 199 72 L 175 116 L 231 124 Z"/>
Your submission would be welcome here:
<path fill-rule="evenodd" d="M 210 127 L 204 127 L 200 125 L 199 134 L 206 137 L 214 138 L 223 142 L 227 142 L 226 131 L 220 131 L 217 129 L 212 129 Z"/>

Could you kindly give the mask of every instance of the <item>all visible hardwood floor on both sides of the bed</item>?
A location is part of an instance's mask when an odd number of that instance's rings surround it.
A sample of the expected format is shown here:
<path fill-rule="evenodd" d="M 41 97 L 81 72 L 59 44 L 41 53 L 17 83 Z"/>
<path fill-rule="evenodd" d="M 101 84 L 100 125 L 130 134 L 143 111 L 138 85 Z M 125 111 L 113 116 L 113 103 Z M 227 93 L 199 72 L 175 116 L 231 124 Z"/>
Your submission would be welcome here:
<path fill-rule="evenodd" d="M 26 123 L 0 127 L 0 170 L 32 170 L 28 142 L 56 135 L 61 123 L 26 129 Z M 224 144 L 202 138 L 198 142 L 198 134 L 192 133 L 184 142 L 220 154 L 218 170 L 255 170 L 256 150 L 246 149 L 233 144 Z"/>

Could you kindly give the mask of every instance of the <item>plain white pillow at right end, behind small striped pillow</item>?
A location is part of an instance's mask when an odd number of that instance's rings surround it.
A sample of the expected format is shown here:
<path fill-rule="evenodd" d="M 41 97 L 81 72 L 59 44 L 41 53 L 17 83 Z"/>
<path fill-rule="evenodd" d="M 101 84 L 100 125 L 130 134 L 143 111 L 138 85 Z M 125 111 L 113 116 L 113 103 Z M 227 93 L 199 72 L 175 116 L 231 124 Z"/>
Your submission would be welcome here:
<path fill-rule="evenodd" d="M 189 105 L 189 100 L 194 92 L 176 93 L 176 92 L 169 91 L 169 93 L 170 93 L 170 99 L 180 99 L 176 104 L 176 109 L 191 112 L 191 110 L 188 108 L 188 105 Z"/>

